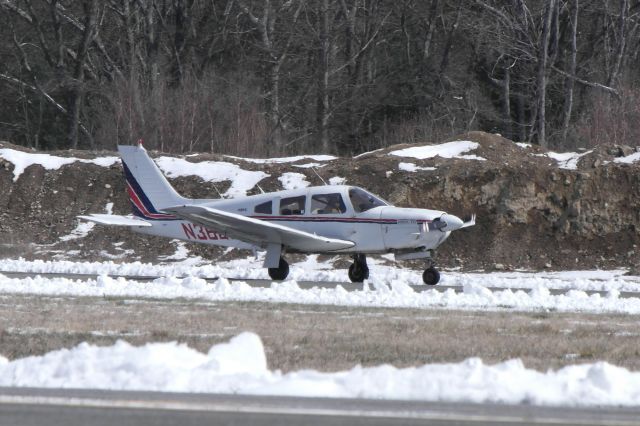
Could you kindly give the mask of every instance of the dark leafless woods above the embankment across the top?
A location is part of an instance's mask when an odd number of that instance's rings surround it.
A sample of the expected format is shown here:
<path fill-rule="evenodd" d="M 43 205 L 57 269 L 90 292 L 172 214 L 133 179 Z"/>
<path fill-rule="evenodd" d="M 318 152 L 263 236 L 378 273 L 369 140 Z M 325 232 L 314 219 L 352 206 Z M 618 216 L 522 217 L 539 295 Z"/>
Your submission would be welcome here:
<path fill-rule="evenodd" d="M 638 0 L 0 0 L 0 139 L 353 154 L 640 141 Z"/>

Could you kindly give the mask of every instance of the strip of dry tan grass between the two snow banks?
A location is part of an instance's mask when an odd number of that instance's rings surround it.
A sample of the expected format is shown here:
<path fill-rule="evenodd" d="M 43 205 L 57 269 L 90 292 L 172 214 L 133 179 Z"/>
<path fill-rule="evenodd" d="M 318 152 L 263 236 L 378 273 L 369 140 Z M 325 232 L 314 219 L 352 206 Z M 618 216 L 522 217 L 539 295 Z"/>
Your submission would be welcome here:
<path fill-rule="evenodd" d="M 0 353 L 9 358 L 119 338 L 206 351 L 249 330 L 262 337 L 270 367 L 283 371 L 468 357 L 521 358 L 539 370 L 594 360 L 640 369 L 640 317 L 630 315 L 3 296 L 0 324 Z"/>

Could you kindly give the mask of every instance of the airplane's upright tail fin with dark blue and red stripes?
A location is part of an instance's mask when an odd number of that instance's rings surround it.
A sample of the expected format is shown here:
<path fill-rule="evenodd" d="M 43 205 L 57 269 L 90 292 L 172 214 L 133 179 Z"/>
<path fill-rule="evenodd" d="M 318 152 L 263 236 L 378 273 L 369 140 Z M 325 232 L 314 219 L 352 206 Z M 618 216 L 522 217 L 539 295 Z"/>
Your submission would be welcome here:
<path fill-rule="evenodd" d="M 119 145 L 118 151 L 122 158 L 133 214 L 152 220 L 176 219 L 173 215 L 163 213 L 162 209 L 188 204 L 189 199 L 180 196 L 173 189 L 142 145 Z"/>

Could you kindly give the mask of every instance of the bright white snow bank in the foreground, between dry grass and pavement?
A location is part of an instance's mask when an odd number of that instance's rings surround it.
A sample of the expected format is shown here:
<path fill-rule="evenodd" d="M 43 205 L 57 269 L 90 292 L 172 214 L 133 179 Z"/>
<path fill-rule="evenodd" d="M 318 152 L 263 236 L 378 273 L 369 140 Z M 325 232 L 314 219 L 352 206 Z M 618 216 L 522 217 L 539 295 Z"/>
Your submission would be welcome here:
<path fill-rule="evenodd" d="M 133 347 L 119 341 L 8 361 L 0 357 L 0 386 L 207 392 L 330 398 L 376 398 L 535 405 L 640 405 L 640 373 L 605 362 L 541 373 L 518 359 L 485 365 L 391 365 L 322 373 L 282 374 L 267 368 L 253 333 L 213 346 L 207 354 L 183 344 Z"/>

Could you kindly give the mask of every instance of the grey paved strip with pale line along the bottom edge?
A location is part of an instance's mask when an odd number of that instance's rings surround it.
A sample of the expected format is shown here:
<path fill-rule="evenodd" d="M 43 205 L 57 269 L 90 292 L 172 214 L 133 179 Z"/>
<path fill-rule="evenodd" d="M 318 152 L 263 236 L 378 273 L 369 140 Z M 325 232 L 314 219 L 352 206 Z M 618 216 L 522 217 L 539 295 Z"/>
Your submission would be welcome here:
<path fill-rule="evenodd" d="M 638 425 L 640 408 L 561 408 L 0 388 L 0 425 Z"/>

